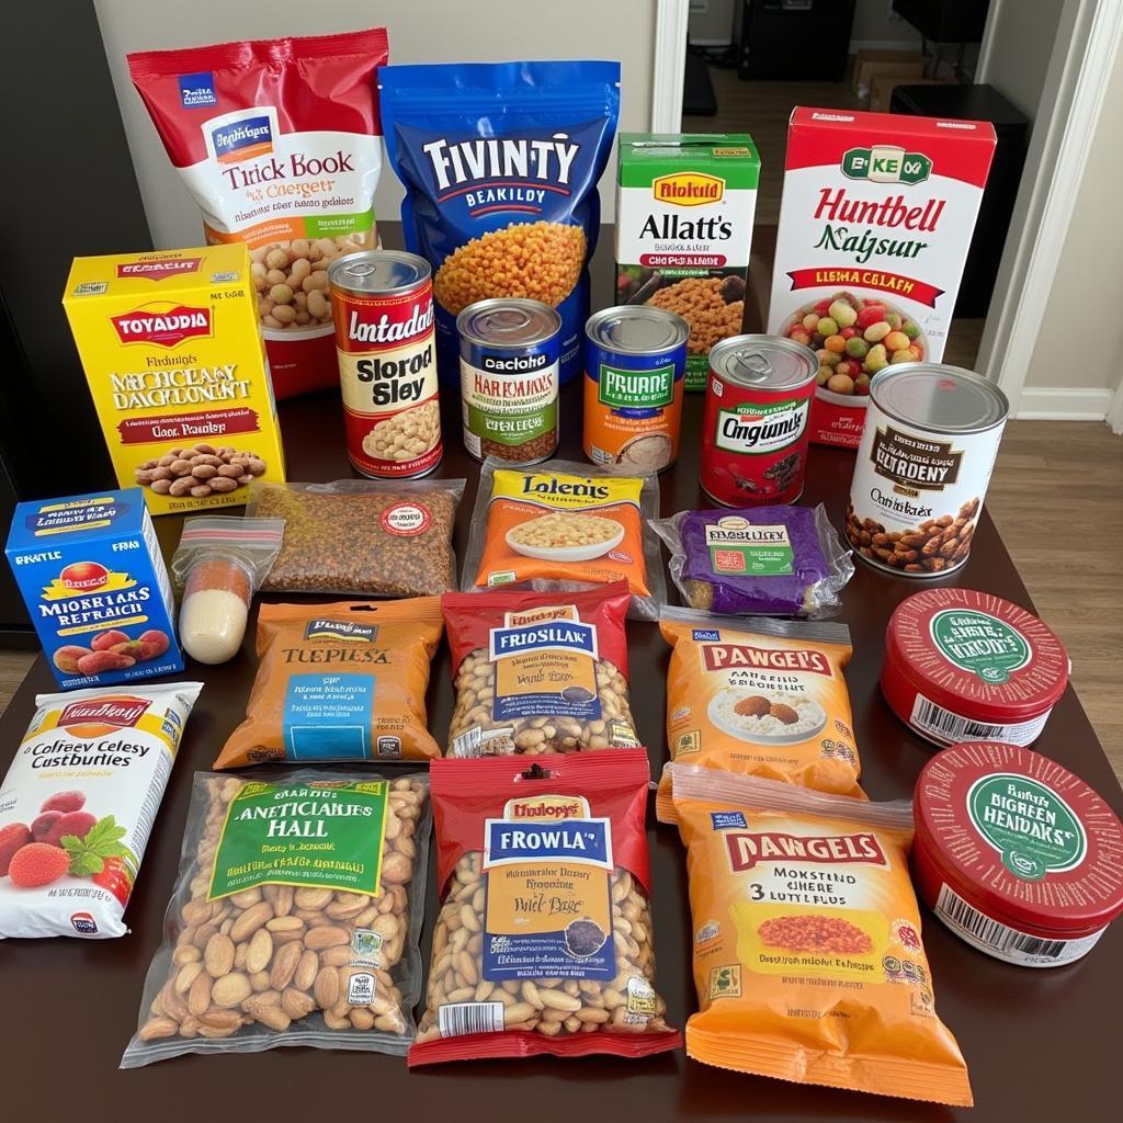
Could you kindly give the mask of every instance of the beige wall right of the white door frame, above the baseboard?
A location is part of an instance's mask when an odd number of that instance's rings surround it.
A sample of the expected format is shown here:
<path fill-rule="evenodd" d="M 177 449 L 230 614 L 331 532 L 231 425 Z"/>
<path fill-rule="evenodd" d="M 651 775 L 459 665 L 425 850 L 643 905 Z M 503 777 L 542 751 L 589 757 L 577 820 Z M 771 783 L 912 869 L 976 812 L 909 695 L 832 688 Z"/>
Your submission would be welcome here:
<path fill-rule="evenodd" d="M 1123 245 L 1119 235 L 1123 183 L 1123 48 L 1116 55 L 1104 108 L 1065 237 L 1026 386 L 1113 390 L 1123 371 Z M 1075 346 L 1078 341 L 1078 345 Z"/>

